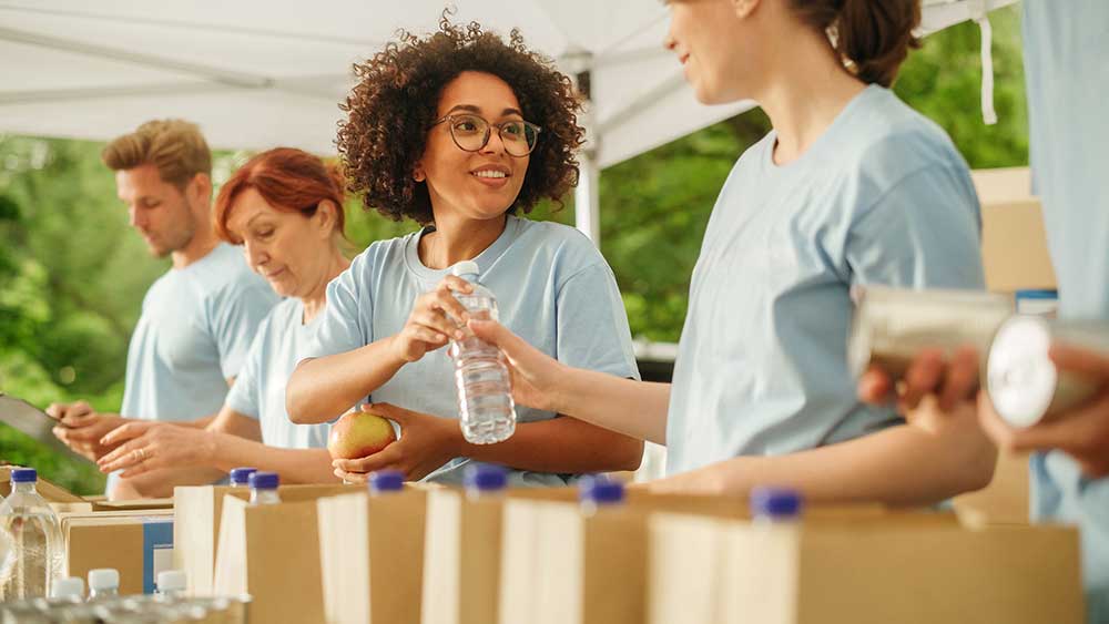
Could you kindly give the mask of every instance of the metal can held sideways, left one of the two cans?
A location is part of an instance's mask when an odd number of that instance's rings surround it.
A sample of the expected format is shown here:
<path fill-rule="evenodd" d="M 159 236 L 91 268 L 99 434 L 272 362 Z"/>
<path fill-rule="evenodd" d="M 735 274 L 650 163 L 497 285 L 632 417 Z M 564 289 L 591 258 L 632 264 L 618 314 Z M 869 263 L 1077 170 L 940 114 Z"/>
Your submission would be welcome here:
<path fill-rule="evenodd" d="M 895 380 L 924 349 L 954 355 L 964 345 L 979 352 L 1013 315 L 1013 299 L 981 290 L 912 290 L 887 286 L 852 289 L 855 316 L 847 366 L 857 377 L 875 366 Z"/>

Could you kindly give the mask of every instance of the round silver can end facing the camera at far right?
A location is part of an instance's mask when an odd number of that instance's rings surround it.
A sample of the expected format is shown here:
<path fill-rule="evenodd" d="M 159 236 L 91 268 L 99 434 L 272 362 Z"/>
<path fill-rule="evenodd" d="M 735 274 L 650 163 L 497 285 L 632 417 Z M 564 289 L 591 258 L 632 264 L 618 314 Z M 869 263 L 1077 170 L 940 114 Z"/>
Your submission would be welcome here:
<path fill-rule="evenodd" d="M 986 389 L 998 416 L 1014 427 L 1035 424 L 1055 398 L 1059 374 L 1048 355 L 1051 329 L 1035 316 L 1005 321 L 989 348 Z"/>

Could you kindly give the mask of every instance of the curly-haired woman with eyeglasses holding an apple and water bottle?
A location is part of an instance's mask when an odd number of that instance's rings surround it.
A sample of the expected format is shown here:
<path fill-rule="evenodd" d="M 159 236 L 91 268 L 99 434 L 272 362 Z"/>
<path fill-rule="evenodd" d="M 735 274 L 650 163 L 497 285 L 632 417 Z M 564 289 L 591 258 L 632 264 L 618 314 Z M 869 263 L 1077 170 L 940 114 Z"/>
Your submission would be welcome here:
<path fill-rule="evenodd" d="M 338 147 L 367 208 L 424 227 L 374 243 L 327 289 L 327 310 L 289 380 L 294 422 L 329 421 L 364 407 L 400 439 L 335 472 L 380 469 L 408 479 L 460 481 L 472 459 L 513 469 L 513 484 L 560 485 L 570 474 L 634 470 L 642 442 L 554 411 L 517 407 L 505 442 L 467 443 L 457 420 L 454 362 L 469 289 L 449 268 L 474 260 L 500 318 L 568 366 L 638 378 L 615 278 L 578 231 L 520 216 L 558 202 L 577 180 L 582 141 L 569 79 L 475 24 L 404 35 L 364 64 L 347 99 Z"/>

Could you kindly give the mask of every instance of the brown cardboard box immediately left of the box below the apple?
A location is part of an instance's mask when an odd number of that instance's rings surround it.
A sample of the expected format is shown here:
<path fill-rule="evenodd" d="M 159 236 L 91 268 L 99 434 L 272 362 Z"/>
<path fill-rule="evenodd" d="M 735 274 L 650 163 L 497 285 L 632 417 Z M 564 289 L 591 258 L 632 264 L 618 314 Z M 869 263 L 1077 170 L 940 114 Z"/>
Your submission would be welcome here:
<path fill-rule="evenodd" d="M 226 493 L 213 575 L 217 595 L 250 594 L 252 622 L 324 622 L 316 500 L 354 485 L 288 485 L 282 502 L 251 507 Z"/>

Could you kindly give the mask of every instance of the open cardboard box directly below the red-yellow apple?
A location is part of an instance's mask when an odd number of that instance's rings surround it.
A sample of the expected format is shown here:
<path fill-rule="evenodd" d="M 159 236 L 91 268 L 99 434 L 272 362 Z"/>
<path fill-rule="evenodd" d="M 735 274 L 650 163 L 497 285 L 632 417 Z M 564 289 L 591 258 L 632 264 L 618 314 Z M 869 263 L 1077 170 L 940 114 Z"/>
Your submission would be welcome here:
<path fill-rule="evenodd" d="M 333 624 L 419 624 L 424 514 L 434 490 L 321 499 L 324 613 Z"/>

